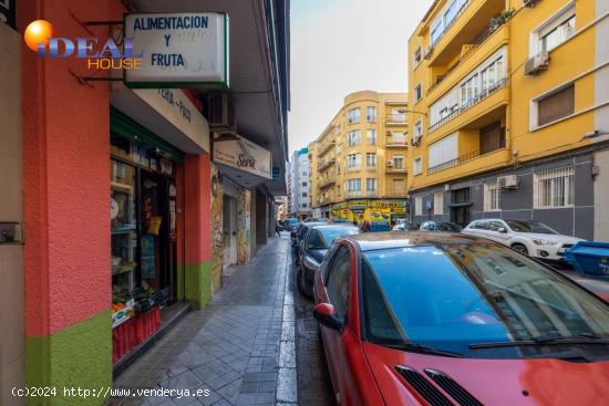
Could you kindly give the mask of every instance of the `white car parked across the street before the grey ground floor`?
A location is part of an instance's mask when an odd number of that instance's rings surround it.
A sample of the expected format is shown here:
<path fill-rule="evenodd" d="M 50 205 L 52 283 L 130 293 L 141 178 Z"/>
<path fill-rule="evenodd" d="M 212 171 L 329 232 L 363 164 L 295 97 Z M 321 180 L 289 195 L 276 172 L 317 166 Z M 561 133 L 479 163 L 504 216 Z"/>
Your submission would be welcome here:
<path fill-rule="evenodd" d="M 560 261 L 565 250 L 580 238 L 559 235 L 546 225 L 533 220 L 483 219 L 467 225 L 461 232 L 484 237 L 543 260 Z"/>

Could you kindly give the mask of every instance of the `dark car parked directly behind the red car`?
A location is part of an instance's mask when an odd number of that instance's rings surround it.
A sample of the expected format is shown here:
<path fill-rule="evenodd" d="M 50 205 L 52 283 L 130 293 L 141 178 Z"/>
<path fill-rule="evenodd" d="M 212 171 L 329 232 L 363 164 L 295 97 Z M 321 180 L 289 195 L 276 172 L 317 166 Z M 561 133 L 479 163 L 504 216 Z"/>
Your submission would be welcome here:
<path fill-rule="evenodd" d="M 300 268 L 297 275 L 298 289 L 302 294 L 313 296 L 314 274 L 332 242 L 339 237 L 359 232 L 359 227 L 347 225 L 318 225 L 309 228 L 300 246 Z"/>

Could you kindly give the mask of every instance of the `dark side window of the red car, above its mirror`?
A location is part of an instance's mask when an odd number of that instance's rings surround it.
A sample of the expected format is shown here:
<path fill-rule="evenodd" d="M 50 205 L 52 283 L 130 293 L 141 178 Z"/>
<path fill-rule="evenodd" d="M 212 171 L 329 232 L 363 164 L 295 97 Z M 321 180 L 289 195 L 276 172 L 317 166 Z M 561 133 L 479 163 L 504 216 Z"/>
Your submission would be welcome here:
<path fill-rule="evenodd" d="M 330 303 L 337 311 L 337 316 L 342 320 L 347 316 L 350 269 L 351 256 L 349 254 L 349 249 L 340 246 L 332 259 L 326 288 Z"/>

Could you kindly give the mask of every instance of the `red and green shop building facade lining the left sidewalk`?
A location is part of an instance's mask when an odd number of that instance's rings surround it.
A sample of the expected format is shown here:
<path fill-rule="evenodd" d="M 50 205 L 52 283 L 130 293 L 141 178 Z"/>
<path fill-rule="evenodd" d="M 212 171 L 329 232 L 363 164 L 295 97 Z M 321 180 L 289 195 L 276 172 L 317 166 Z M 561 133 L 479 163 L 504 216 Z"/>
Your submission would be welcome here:
<path fill-rule="evenodd" d="M 25 0 L 10 25 L 0 19 L 0 404 L 105 404 L 63 388 L 111 387 L 176 315 L 221 289 L 225 261 L 246 263 L 273 231 L 273 196 L 286 194 L 289 1 L 214 4 Z M 41 18 L 64 38 L 103 43 L 124 13 L 209 10 L 248 38 L 227 51 L 235 80 L 221 92 L 91 82 L 86 60 L 40 58 L 23 41 Z M 256 82 L 271 91 L 247 94 Z M 235 119 L 223 122 L 229 104 Z M 242 168 L 229 159 L 239 153 L 260 159 Z M 58 394 L 13 396 L 25 386 Z"/>

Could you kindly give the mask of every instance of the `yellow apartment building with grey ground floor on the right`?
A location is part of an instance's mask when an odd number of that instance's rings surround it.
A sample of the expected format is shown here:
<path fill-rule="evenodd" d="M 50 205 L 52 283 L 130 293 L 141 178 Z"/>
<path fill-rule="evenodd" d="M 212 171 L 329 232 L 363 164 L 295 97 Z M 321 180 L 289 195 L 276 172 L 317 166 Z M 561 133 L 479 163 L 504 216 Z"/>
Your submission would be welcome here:
<path fill-rule="evenodd" d="M 609 2 L 438 0 L 409 40 L 411 220 L 609 239 Z"/>

